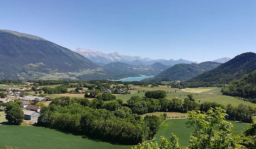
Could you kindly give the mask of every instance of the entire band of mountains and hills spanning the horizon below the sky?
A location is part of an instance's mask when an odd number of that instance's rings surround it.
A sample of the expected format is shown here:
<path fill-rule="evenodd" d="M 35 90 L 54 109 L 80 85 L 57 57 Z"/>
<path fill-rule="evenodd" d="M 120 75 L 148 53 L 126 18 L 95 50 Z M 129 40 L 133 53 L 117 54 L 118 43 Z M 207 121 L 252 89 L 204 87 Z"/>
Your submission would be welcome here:
<path fill-rule="evenodd" d="M 217 62 L 197 64 L 183 59 L 142 59 L 139 56 L 132 57 L 118 53 L 104 54 L 79 48 L 76 51 L 89 57 L 90 60 L 79 53 L 41 37 L 15 31 L 0 30 L 0 79 L 92 80 L 154 75 L 155 77 L 151 81 L 182 81 L 189 79 L 183 83 L 189 86 L 191 84 L 191 86 L 195 84 L 202 86 L 209 85 L 205 84 L 205 82 L 213 81 L 217 77 L 222 81 L 214 81 L 210 82 L 210 84 L 226 83 L 232 80 L 232 78 L 239 78 L 251 72 L 251 70 L 255 70 L 256 63 L 255 53 L 241 54 L 232 60 L 226 57 L 215 60 L 219 62 L 229 60 L 221 65 Z M 97 61 L 97 63 L 93 61 Z M 217 69 L 218 72 L 209 71 L 211 69 Z M 208 72 L 211 74 L 209 75 Z M 198 78 L 194 77 L 197 75 L 199 75 Z M 215 78 L 211 78 L 214 75 Z M 225 79 L 226 81 L 223 81 Z M 196 83 L 191 83 L 193 81 L 196 81 Z"/>

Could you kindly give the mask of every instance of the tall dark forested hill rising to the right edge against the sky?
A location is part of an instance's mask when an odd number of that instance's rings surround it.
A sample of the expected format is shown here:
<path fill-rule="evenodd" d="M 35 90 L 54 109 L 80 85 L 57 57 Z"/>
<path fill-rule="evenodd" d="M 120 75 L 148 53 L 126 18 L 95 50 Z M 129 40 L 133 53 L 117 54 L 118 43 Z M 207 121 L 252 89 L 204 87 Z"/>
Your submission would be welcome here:
<path fill-rule="evenodd" d="M 240 54 L 219 67 L 191 78 L 182 85 L 186 87 L 210 87 L 228 84 L 256 69 L 256 54 L 252 52 Z"/>

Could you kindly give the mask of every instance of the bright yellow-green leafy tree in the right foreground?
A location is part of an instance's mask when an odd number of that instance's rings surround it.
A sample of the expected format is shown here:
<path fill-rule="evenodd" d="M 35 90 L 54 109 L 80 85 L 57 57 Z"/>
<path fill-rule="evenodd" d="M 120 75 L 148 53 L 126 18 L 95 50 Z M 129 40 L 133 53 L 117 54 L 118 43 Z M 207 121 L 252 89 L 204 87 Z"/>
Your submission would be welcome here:
<path fill-rule="evenodd" d="M 233 125 L 225 121 L 225 110 L 210 108 L 207 112 L 188 111 L 190 117 L 187 127 L 193 127 L 194 133 L 189 140 L 191 149 L 227 149 L 236 146 Z"/>

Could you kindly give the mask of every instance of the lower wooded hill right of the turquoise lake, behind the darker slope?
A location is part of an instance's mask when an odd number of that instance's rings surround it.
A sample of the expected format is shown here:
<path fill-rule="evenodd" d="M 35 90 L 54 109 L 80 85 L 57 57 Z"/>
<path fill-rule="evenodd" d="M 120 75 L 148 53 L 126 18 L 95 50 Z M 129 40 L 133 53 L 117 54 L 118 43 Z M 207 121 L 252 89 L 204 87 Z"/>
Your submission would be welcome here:
<path fill-rule="evenodd" d="M 171 68 L 162 71 L 154 78 L 148 79 L 151 82 L 161 82 L 161 81 L 172 81 L 172 80 L 187 80 L 195 77 L 203 72 L 211 70 L 220 66 L 217 62 L 202 62 L 200 64 L 176 64 Z"/>

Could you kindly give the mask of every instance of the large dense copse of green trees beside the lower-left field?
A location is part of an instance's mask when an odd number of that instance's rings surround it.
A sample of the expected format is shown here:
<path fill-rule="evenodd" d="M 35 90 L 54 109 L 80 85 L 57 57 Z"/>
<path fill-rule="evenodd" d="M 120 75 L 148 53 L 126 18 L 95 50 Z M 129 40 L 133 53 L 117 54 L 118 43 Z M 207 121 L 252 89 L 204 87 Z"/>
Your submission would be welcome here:
<path fill-rule="evenodd" d="M 38 124 L 113 143 L 138 144 L 152 139 L 164 120 L 162 115 L 143 119 L 117 104 L 105 104 L 101 99 L 56 98 L 41 109 Z"/>

